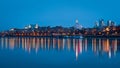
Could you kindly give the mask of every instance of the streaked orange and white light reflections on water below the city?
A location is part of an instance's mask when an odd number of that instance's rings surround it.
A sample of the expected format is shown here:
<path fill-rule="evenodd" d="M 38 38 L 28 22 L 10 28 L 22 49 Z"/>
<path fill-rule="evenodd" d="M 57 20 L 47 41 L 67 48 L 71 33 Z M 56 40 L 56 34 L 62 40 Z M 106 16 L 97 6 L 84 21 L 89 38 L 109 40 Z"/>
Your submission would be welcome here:
<path fill-rule="evenodd" d="M 74 51 L 76 59 L 82 53 L 92 52 L 98 56 L 107 55 L 108 58 L 116 56 L 117 51 L 120 50 L 120 39 L 108 38 L 33 38 L 33 37 L 5 37 L 0 38 L 1 49 L 23 49 L 27 52 L 39 50 L 67 50 Z"/>

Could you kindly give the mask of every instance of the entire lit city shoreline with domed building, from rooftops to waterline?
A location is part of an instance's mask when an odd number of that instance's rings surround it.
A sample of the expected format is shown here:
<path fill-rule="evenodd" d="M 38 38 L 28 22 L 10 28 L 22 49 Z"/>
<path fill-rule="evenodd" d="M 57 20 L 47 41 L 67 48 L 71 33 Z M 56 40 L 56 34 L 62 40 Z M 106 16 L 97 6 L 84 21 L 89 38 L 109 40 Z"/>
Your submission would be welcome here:
<path fill-rule="evenodd" d="M 0 32 L 1 37 L 120 37 L 120 25 L 114 21 L 108 20 L 105 24 L 104 19 L 100 19 L 92 28 L 85 28 L 79 21 L 71 27 L 63 26 L 39 26 L 38 24 L 29 24 L 24 28 L 11 28 Z"/>

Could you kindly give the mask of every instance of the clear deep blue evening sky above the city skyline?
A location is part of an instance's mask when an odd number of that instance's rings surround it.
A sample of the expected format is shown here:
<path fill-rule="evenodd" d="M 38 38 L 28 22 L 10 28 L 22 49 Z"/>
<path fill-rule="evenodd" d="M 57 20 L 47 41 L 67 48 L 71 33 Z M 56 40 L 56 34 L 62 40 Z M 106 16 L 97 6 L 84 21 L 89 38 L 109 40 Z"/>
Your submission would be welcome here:
<path fill-rule="evenodd" d="M 119 0 L 0 0 L 0 30 L 40 26 L 73 26 L 75 19 L 92 27 L 100 18 L 120 22 Z"/>

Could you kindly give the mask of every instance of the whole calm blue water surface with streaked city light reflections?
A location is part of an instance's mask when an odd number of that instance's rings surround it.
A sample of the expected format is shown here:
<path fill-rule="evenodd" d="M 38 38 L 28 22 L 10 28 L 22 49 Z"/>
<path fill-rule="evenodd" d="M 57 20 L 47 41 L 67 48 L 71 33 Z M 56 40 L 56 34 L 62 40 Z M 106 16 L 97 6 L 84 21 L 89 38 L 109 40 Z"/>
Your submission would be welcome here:
<path fill-rule="evenodd" d="M 0 38 L 0 68 L 120 68 L 119 38 Z"/>

